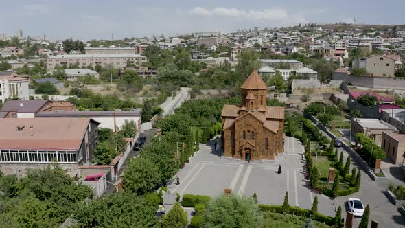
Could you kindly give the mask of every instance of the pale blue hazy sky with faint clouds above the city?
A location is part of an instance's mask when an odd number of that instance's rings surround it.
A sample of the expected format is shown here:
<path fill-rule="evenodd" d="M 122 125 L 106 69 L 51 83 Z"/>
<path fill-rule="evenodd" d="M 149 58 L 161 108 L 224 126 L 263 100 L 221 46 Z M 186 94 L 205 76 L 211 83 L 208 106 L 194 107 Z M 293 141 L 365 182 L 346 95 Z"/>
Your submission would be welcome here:
<path fill-rule="evenodd" d="M 394 7 L 395 6 L 395 7 Z M 4 0 L 0 34 L 80 40 L 235 32 L 299 23 L 405 23 L 404 0 Z"/>

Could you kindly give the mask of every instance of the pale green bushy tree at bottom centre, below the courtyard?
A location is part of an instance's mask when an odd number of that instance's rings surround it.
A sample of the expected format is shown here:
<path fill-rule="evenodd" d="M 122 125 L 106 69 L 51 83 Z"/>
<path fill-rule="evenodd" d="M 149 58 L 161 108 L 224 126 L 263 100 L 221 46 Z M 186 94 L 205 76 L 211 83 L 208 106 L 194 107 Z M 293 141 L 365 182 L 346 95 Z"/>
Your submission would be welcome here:
<path fill-rule="evenodd" d="M 262 212 L 252 197 L 221 195 L 211 199 L 203 214 L 203 227 L 259 227 Z"/>

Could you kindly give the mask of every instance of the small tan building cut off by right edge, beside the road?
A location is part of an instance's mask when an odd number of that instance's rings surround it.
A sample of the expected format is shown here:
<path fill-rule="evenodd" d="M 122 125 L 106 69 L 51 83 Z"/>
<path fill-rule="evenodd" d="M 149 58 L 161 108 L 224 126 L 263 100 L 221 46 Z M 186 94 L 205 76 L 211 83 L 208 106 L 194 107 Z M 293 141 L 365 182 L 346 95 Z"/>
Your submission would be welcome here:
<path fill-rule="evenodd" d="M 383 131 L 381 148 L 393 163 L 405 163 L 405 135 Z"/>

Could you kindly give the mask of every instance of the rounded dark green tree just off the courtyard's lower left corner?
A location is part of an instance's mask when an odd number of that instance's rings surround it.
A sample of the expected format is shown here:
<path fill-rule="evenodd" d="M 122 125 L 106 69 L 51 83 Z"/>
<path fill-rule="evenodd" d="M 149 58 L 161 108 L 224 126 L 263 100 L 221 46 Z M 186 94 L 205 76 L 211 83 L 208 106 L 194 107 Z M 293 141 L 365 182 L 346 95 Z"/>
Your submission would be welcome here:
<path fill-rule="evenodd" d="M 145 194 L 161 182 L 161 170 L 149 159 L 132 159 L 124 172 L 124 187 L 130 192 Z"/>

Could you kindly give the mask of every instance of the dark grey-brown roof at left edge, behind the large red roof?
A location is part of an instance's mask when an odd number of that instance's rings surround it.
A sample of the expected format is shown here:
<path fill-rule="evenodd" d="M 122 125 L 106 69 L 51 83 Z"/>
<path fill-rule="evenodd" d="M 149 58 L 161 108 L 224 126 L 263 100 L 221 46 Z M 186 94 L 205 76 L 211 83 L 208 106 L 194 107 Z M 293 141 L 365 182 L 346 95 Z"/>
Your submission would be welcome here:
<path fill-rule="evenodd" d="M 17 113 L 36 113 L 45 104 L 47 100 L 8 100 L 5 102 L 0 111 L 10 112 L 16 111 Z"/>

